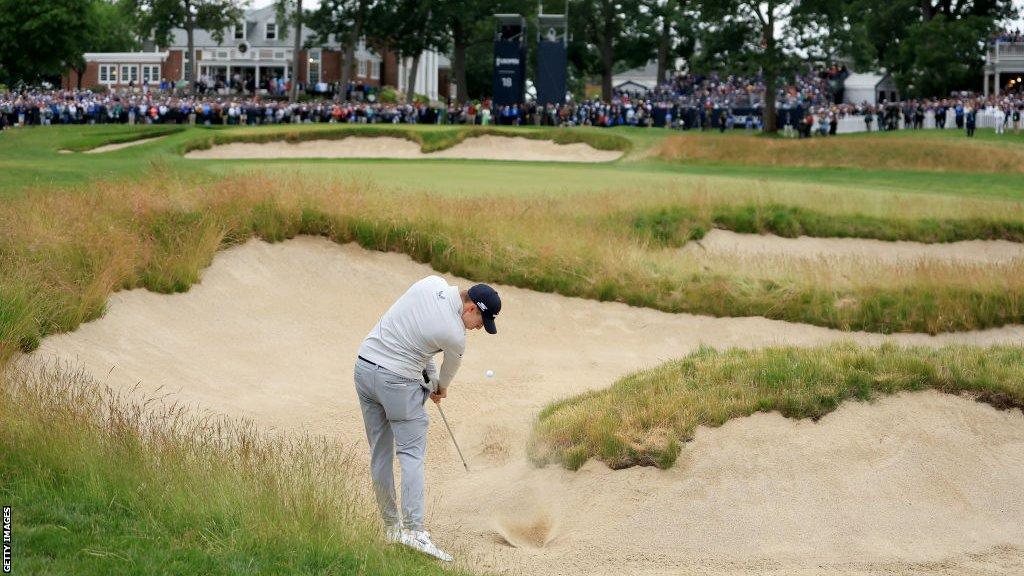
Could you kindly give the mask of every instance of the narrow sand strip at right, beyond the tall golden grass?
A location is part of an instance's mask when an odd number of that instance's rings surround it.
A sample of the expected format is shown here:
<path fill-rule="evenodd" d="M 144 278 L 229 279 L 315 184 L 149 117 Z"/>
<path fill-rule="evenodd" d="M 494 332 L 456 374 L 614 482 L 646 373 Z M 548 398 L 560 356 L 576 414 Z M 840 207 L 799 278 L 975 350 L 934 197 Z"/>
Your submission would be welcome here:
<path fill-rule="evenodd" d="M 683 250 L 694 254 L 844 258 L 885 263 L 937 260 L 995 264 L 1024 260 L 1024 244 L 1005 240 L 923 244 L 860 238 L 781 238 L 773 235 L 736 234 L 727 230 L 713 230 L 699 242 L 688 243 Z"/>

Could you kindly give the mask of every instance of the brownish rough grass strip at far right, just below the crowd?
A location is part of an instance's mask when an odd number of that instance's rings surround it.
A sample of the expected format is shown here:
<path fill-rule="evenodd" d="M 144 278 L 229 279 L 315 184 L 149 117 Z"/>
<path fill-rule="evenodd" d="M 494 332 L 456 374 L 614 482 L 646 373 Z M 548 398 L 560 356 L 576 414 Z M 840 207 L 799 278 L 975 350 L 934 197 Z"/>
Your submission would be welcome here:
<path fill-rule="evenodd" d="M 652 156 L 676 162 L 787 166 L 802 168 L 864 168 L 939 172 L 1024 172 L 1024 148 L 948 138 L 772 139 L 757 136 L 669 136 Z"/>

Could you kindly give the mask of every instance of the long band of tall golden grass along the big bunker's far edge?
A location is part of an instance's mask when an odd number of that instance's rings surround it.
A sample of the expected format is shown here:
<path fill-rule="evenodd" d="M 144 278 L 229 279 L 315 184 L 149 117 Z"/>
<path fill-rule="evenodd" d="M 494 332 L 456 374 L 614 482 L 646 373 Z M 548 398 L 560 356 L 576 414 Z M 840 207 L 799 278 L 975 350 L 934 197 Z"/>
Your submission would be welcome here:
<path fill-rule="evenodd" d="M 664 233 L 637 224 L 659 207 L 689 202 L 686 221 L 706 230 L 714 225 L 709 214 L 730 206 L 709 198 L 673 191 L 446 198 L 297 174 L 209 181 L 162 173 L 145 182 L 103 182 L 71 193 L 38 190 L 0 205 L 6 232 L 0 237 L 0 358 L 96 318 L 114 290 L 186 290 L 218 248 L 254 236 L 279 241 L 298 234 L 404 252 L 481 281 L 669 312 L 880 332 L 935 333 L 1024 320 L 1021 266 L 1001 269 L 1006 277 L 988 285 L 951 282 L 956 269 L 937 274 L 927 266 L 870 282 L 820 284 L 677 259 L 666 253 L 666 243 L 697 238 L 700 230 L 684 236 L 671 219 Z M 979 278 L 994 275 L 973 276 Z"/>

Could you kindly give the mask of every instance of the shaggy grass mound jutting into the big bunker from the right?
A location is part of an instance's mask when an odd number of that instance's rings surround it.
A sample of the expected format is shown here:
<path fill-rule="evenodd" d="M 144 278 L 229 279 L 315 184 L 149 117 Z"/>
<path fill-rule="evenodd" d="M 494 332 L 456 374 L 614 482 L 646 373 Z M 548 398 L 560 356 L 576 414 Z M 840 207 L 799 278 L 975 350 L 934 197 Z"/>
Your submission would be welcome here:
<path fill-rule="evenodd" d="M 668 468 L 697 426 L 776 410 L 817 419 L 848 400 L 929 388 L 1024 408 L 1024 347 L 702 347 L 549 405 L 538 416 L 528 454 L 539 465 L 570 469 L 590 458 L 612 468 Z"/>

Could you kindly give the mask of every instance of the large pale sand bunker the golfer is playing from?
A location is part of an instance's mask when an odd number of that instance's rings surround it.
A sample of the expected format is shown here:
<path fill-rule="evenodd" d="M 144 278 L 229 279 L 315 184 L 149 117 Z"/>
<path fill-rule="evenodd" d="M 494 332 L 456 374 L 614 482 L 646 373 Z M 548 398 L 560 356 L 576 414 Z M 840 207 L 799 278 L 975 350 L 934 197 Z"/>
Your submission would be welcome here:
<path fill-rule="evenodd" d="M 189 292 L 119 292 L 100 320 L 49 337 L 118 389 L 352 443 L 358 344 L 432 271 L 300 238 L 218 254 Z M 447 277 L 467 286 L 468 281 Z M 428 527 L 471 567 L 517 574 L 1022 574 L 1024 416 L 937 393 L 846 404 L 818 423 L 758 414 L 700 429 L 670 470 L 535 469 L 548 402 L 716 347 L 840 338 L 1024 342 L 1024 327 L 930 337 L 845 334 L 761 318 L 671 315 L 499 286 L 499 334 L 472 332 L 445 413 L 428 405 Z M 484 371 L 496 372 L 494 378 Z M 510 543 L 512 545 L 510 545 Z"/>

